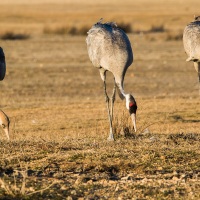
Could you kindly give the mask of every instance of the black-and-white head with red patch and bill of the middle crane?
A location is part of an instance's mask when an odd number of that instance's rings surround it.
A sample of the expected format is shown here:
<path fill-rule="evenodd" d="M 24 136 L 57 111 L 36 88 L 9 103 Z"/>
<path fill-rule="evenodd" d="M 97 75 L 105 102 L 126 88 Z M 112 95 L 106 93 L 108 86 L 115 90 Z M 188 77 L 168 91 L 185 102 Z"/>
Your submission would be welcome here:
<path fill-rule="evenodd" d="M 129 113 L 131 115 L 131 119 L 133 122 L 134 130 L 136 132 L 136 111 L 137 111 L 137 103 L 134 99 L 134 97 L 131 94 L 126 94 L 126 108 L 129 110 Z"/>

